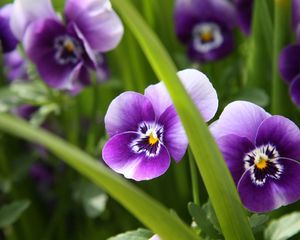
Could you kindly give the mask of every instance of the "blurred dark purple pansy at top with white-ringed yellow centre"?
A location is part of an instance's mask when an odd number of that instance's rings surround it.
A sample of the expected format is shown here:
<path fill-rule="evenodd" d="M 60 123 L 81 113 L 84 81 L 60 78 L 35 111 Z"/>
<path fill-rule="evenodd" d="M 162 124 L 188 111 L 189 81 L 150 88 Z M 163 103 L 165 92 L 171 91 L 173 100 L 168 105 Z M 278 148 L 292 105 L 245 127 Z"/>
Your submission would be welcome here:
<path fill-rule="evenodd" d="M 232 52 L 236 15 L 227 0 L 177 0 L 174 18 L 191 59 L 213 61 Z"/>

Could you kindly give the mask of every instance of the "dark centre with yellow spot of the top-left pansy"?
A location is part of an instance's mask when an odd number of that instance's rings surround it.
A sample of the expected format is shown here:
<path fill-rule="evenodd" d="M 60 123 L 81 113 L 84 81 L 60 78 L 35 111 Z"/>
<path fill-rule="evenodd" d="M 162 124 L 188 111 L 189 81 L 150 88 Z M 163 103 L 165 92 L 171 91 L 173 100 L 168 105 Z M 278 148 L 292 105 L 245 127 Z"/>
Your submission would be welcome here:
<path fill-rule="evenodd" d="M 76 64 L 80 61 L 82 47 L 75 38 L 65 35 L 54 40 L 55 60 L 61 64 Z"/>

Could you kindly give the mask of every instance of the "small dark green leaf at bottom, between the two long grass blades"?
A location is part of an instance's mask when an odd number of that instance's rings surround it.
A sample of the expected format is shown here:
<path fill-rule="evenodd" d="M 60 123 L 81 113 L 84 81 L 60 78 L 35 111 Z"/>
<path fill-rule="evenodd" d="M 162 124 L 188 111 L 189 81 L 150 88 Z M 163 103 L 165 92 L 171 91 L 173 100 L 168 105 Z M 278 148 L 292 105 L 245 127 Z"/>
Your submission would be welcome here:
<path fill-rule="evenodd" d="M 206 212 L 194 203 L 188 204 L 190 215 L 201 229 L 201 233 L 205 233 L 211 239 L 220 239 L 222 236 L 216 231 L 214 226 L 208 220 Z"/>

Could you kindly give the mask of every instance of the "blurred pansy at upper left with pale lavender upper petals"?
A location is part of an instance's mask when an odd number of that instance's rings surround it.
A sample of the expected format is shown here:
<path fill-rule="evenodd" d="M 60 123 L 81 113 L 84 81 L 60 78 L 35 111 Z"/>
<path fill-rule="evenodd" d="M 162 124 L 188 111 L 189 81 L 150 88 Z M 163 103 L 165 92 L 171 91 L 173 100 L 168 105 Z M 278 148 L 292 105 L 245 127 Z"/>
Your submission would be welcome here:
<path fill-rule="evenodd" d="M 73 93 L 90 84 L 90 71 L 103 79 L 101 55 L 117 46 L 123 25 L 109 0 L 67 0 L 64 21 L 49 0 L 15 0 L 11 27 L 51 87 Z"/>

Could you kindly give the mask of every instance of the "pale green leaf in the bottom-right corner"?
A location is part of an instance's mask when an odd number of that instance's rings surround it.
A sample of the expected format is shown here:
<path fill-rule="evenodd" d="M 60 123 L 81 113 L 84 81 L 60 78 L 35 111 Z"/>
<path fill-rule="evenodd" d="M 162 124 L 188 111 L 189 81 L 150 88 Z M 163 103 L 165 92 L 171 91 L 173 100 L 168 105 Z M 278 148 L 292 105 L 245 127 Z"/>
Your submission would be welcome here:
<path fill-rule="evenodd" d="M 300 212 L 293 212 L 270 222 L 265 230 L 265 239 L 285 240 L 299 232 Z"/>

